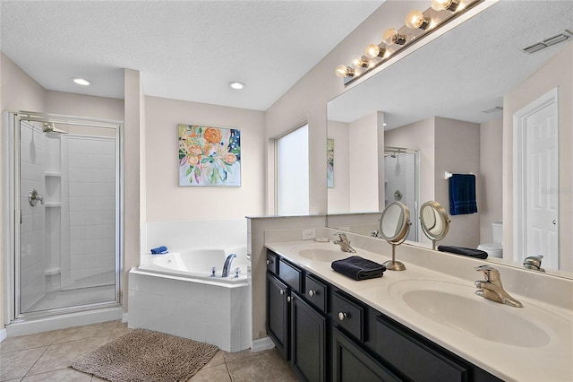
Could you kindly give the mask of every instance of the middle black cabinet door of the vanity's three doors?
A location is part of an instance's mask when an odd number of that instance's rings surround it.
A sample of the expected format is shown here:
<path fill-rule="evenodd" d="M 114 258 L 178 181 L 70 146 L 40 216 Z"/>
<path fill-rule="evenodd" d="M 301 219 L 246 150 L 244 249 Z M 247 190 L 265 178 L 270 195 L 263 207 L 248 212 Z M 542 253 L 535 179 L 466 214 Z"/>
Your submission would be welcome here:
<path fill-rule="evenodd" d="M 326 380 L 326 318 L 291 293 L 291 362 L 300 378 Z"/>

